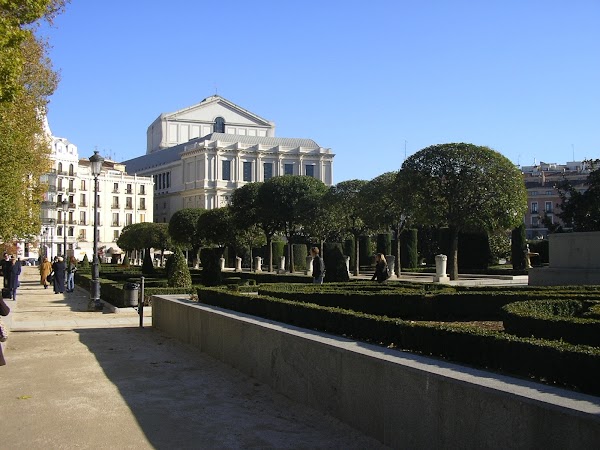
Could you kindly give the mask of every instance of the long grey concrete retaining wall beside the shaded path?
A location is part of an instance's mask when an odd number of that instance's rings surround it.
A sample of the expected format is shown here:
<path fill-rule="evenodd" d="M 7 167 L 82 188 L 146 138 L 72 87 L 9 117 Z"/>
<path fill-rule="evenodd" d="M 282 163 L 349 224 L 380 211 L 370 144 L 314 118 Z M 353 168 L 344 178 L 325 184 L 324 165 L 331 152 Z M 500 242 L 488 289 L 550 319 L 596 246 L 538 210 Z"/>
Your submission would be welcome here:
<path fill-rule="evenodd" d="M 600 398 L 153 297 L 153 326 L 393 448 L 597 448 Z"/>

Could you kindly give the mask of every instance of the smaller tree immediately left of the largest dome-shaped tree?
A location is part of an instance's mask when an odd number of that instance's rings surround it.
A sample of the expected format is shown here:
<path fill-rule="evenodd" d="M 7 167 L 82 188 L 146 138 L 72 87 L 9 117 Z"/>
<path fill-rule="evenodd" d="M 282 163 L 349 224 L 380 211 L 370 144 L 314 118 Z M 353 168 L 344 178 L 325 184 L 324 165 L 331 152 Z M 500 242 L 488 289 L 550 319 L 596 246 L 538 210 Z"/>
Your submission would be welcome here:
<path fill-rule="evenodd" d="M 400 275 L 400 236 L 404 230 L 408 214 L 406 198 L 409 193 L 399 192 L 398 172 L 386 172 L 365 184 L 360 192 L 364 208 L 365 222 L 372 230 L 392 230 L 396 235 L 396 273 Z"/>

